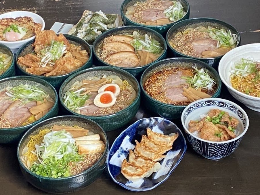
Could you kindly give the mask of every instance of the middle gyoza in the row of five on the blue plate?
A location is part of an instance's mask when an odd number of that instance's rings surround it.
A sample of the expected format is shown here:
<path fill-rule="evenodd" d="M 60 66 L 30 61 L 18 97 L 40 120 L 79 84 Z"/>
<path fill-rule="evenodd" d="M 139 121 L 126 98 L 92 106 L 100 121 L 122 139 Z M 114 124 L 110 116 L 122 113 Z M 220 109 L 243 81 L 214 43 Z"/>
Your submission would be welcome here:
<path fill-rule="evenodd" d="M 144 145 L 141 146 L 137 140 L 135 140 L 136 146 L 135 146 L 135 154 L 138 156 L 142 156 L 144 158 L 151 159 L 153 161 L 159 161 L 165 158 L 165 155 L 157 154 L 152 152 L 151 150 L 148 150 Z"/>

